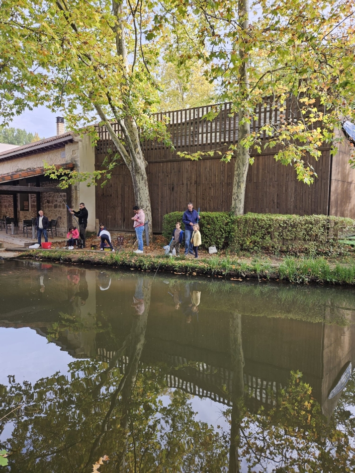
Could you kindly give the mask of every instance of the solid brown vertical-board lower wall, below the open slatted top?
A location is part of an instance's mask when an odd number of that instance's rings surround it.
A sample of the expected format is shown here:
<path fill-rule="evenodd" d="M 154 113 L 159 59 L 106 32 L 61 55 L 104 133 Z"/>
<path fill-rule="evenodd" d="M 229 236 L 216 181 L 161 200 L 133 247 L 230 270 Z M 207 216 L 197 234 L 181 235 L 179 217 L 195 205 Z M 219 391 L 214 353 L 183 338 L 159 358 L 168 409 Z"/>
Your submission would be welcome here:
<path fill-rule="evenodd" d="M 245 212 L 327 214 L 329 151 L 314 164 L 318 179 L 311 186 L 296 180 L 292 166 L 282 166 L 273 155 L 255 158 L 249 167 Z M 163 216 L 184 210 L 191 200 L 201 211 L 228 211 L 231 205 L 234 159 L 151 161 L 147 167 L 153 231 L 162 231 Z M 125 165 L 117 166 L 104 187 L 96 187 L 96 218 L 112 230 L 132 230 L 134 195 Z"/>

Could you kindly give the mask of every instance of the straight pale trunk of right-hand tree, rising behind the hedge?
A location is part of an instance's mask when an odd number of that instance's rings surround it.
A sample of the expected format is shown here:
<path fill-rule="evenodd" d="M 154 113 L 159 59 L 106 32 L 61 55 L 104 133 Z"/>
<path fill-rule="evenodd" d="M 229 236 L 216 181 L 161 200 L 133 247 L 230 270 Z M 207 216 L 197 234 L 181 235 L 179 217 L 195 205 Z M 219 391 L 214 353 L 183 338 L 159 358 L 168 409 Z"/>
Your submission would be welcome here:
<path fill-rule="evenodd" d="M 239 24 L 242 28 L 242 35 L 249 27 L 249 0 L 239 0 L 238 3 Z M 239 57 L 242 63 L 239 67 L 239 92 L 243 101 L 248 98 L 249 78 L 248 78 L 248 53 L 245 50 L 245 43 L 239 48 Z M 249 112 L 244 105 L 239 109 L 238 145 L 237 157 L 234 165 L 234 180 L 232 193 L 231 211 L 234 215 L 244 214 L 245 189 L 247 184 L 247 173 L 249 167 L 249 149 L 241 145 L 241 141 L 250 133 Z"/>

